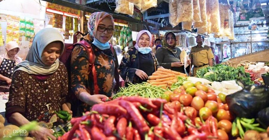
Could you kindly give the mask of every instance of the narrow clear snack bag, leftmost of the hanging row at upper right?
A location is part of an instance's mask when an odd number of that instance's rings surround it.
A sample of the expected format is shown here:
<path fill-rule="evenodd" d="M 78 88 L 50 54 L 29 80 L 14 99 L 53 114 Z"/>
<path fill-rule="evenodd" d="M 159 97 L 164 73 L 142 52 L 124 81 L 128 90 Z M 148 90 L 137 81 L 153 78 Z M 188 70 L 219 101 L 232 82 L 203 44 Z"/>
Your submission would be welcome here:
<path fill-rule="evenodd" d="M 178 0 L 169 0 L 169 23 L 174 28 L 178 25 L 177 22 L 177 9 L 178 9 Z"/>

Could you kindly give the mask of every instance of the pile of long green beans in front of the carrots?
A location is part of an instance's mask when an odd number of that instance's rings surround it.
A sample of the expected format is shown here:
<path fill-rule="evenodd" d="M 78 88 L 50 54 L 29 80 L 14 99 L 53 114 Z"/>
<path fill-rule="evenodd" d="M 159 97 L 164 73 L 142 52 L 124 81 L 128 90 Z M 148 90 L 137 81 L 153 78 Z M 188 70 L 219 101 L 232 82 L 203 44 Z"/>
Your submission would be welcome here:
<path fill-rule="evenodd" d="M 159 98 L 166 91 L 162 86 L 152 85 L 146 82 L 140 84 L 129 83 L 126 88 L 120 88 L 120 92 L 113 96 L 116 99 L 121 96 L 141 96 L 146 98 Z"/>

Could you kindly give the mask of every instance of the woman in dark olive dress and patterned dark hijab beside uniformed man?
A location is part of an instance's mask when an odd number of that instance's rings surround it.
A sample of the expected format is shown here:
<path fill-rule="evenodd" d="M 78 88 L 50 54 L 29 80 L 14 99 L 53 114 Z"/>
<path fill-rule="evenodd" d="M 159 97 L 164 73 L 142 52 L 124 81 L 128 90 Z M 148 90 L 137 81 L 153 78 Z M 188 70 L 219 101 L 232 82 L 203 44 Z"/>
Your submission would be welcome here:
<path fill-rule="evenodd" d="M 179 55 L 181 50 L 176 47 L 176 38 L 173 32 L 166 32 L 163 36 L 163 46 L 156 51 L 156 58 L 165 69 L 171 69 L 185 73 L 184 64 L 180 61 Z M 190 60 L 187 63 L 190 64 Z M 189 66 L 186 68 L 189 73 Z"/>

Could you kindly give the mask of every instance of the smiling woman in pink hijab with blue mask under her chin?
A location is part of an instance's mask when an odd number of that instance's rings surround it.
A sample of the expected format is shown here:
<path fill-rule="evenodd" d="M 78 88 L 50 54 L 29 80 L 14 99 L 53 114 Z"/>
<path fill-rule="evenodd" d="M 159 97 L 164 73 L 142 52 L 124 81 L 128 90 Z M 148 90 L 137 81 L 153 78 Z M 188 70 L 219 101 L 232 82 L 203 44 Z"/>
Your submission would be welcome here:
<path fill-rule="evenodd" d="M 149 47 L 151 40 L 149 31 L 138 32 L 135 47 L 123 55 L 119 73 L 126 83 L 146 82 L 148 77 L 156 71 L 158 62 Z"/>

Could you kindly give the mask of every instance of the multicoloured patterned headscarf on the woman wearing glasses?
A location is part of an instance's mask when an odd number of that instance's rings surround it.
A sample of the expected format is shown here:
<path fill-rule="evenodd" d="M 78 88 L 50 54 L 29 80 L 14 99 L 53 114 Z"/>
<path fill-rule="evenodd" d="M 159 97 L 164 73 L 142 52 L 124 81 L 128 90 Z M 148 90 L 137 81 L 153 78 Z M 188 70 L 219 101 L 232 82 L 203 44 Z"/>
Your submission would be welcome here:
<path fill-rule="evenodd" d="M 92 13 L 91 16 L 89 17 L 88 32 L 89 32 L 89 35 L 90 35 L 92 41 L 95 38 L 95 36 L 97 36 L 98 25 L 106 17 L 111 19 L 113 29 L 114 29 L 114 19 L 113 19 L 112 15 L 110 15 L 106 12 L 95 12 L 95 13 Z"/>

